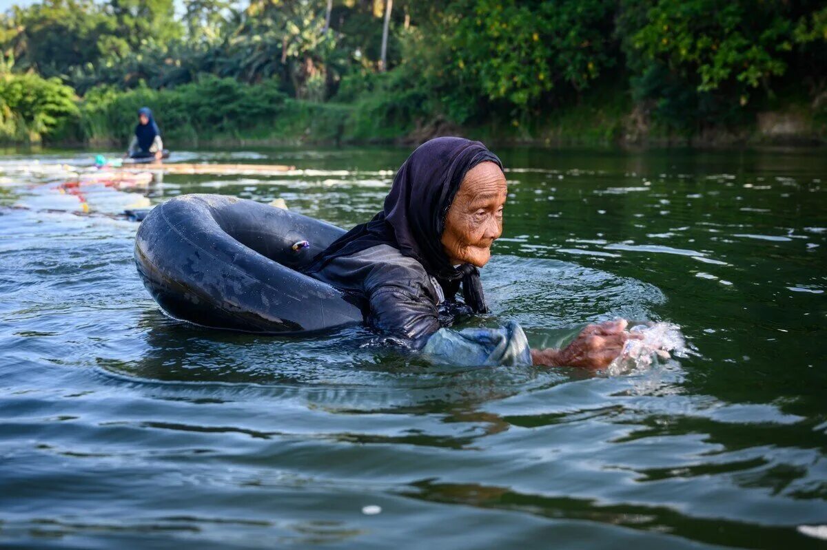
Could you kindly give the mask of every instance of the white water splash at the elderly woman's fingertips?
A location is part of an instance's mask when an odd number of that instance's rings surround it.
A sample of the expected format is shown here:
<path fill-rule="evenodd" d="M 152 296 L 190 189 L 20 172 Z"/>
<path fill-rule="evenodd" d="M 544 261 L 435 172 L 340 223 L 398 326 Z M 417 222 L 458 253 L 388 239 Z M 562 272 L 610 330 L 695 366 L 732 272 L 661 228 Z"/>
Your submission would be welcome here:
<path fill-rule="evenodd" d="M 629 332 L 641 334 L 642 339 L 629 339 L 623 353 L 609 365 L 607 372 L 614 376 L 625 372 L 641 371 L 653 363 L 669 358 L 684 358 L 688 353 L 681 334 L 681 327 L 672 323 L 648 323 L 635 325 Z"/>

